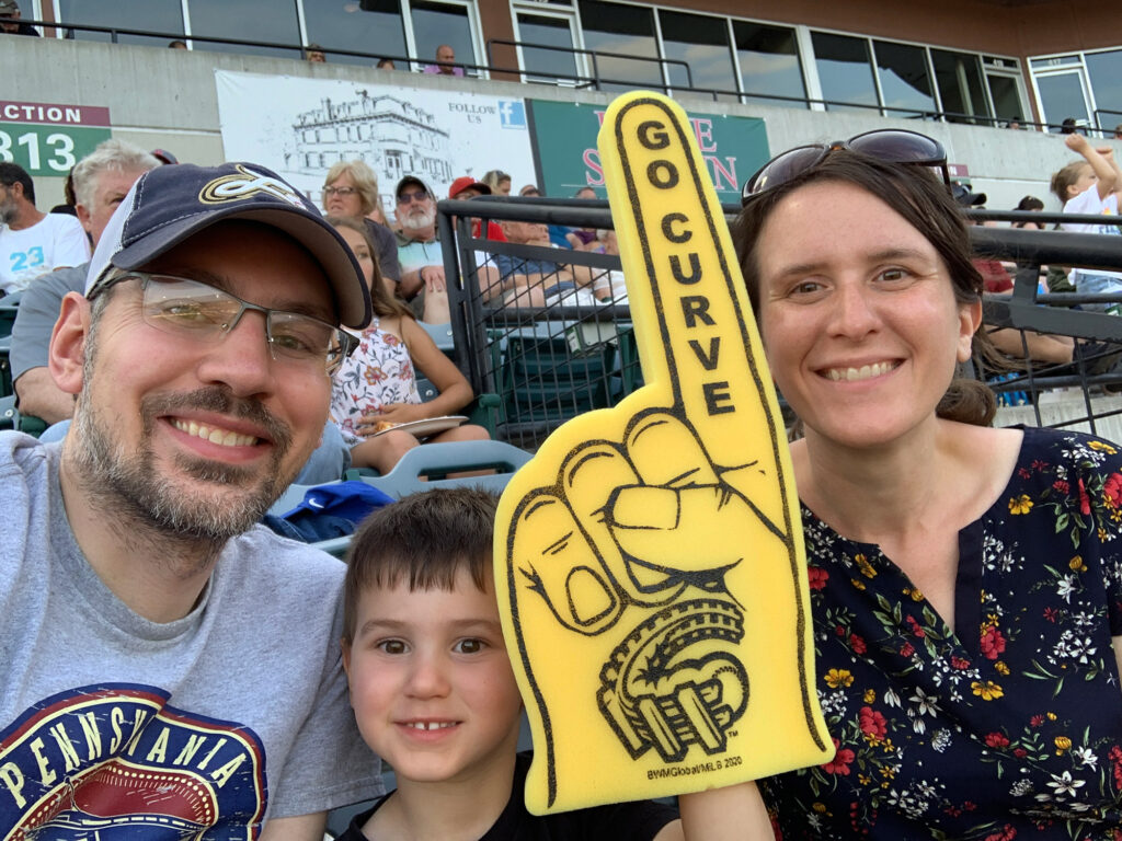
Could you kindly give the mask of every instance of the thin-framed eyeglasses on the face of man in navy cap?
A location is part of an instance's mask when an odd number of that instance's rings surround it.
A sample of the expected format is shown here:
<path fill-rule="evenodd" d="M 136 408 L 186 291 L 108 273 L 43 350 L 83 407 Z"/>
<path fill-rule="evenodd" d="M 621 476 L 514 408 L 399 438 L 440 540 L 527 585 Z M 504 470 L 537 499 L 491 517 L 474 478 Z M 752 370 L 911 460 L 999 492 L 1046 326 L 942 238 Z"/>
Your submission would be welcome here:
<path fill-rule="evenodd" d="M 265 336 L 275 361 L 327 371 L 329 376 L 358 346 L 355 336 L 325 321 L 250 304 L 210 284 L 184 277 L 128 271 L 94 286 L 86 297 L 92 299 L 127 280 L 140 281 L 144 296 L 140 316 L 145 324 L 164 333 L 217 342 L 238 326 L 247 309 L 252 309 L 265 316 Z"/>

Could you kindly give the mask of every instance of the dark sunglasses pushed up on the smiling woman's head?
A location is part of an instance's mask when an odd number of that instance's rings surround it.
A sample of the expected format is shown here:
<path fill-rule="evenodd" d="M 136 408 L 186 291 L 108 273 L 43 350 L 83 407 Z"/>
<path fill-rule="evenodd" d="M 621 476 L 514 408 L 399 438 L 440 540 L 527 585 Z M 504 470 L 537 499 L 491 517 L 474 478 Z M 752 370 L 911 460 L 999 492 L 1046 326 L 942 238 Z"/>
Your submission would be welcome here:
<path fill-rule="evenodd" d="M 744 184 L 741 204 L 818 166 L 835 149 L 850 149 L 889 164 L 939 167 L 944 184 L 950 184 L 947 151 L 935 138 L 908 129 L 874 129 L 831 144 L 797 146 L 769 160 Z"/>

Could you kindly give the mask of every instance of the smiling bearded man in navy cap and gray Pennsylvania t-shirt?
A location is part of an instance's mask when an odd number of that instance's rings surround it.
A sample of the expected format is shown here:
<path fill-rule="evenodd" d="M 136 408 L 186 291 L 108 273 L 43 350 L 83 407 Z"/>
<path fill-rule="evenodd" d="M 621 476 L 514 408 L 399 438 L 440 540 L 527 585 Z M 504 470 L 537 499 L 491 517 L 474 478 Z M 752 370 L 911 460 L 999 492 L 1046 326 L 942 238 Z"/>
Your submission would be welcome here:
<path fill-rule="evenodd" d="M 0 837 L 318 841 L 376 793 L 343 565 L 254 526 L 369 318 L 344 241 L 268 169 L 129 191 L 52 339 L 73 428 L 0 433 Z"/>

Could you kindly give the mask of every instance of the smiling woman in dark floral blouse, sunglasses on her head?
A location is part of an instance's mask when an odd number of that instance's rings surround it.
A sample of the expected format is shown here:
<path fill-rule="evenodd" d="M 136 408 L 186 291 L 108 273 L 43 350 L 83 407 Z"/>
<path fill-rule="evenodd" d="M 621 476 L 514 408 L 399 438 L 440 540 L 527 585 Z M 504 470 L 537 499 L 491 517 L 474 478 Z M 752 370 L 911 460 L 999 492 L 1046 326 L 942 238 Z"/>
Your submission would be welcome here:
<path fill-rule="evenodd" d="M 984 341 L 982 278 L 945 172 L 908 131 L 800 147 L 748 181 L 733 228 L 804 429 L 791 456 L 836 748 L 760 782 L 788 839 L 1119 821 L 1122 453 L 993 428 L 993 396 L 958 379 Z"/>

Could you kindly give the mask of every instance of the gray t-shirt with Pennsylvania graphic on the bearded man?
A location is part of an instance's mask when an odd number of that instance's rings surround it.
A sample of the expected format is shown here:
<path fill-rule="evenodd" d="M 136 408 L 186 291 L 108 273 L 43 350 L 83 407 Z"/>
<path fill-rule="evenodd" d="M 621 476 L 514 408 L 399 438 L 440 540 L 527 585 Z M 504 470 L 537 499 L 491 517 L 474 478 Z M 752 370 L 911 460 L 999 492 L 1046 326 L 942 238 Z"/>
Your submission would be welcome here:
<path fill-rule="evenodd" d="M 149 621 L 75 543 L 59 453 L 0 433 L 0 838 L 248 839 L 380 793 L 341 669 L 343 564 L 257 526 L 188 616 Z"/>

